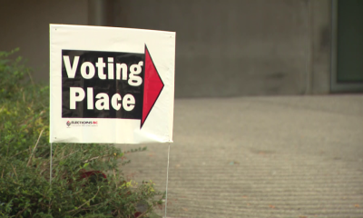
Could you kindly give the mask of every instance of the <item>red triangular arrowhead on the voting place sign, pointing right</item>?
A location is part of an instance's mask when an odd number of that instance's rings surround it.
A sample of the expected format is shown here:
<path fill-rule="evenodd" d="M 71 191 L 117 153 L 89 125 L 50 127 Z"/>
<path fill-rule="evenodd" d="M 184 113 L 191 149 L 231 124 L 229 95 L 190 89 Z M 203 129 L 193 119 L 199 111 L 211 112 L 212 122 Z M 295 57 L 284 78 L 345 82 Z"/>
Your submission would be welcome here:
<path fill-rule="evenodd" d="M 145 75 L 143 77 L 142 124 L 140 128 L 142 128 L 146 118 L 152 111 L 152 107 L 162 93 L 163 87 L 162 78 L 160 77 L 155 64 L 153 64 L 152 57 L 145 45 Z"/>

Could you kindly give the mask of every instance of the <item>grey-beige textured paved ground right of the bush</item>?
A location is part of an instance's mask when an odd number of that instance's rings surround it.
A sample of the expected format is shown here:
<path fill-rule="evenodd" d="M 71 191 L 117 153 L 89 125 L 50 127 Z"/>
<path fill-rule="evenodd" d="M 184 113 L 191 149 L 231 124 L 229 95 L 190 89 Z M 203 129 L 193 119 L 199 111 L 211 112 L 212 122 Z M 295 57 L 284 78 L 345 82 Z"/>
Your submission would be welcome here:
<path fill-rule="evenodd" d="M 167 150 L 124 172 L 165 190 Z M 176 100 L 168 193 L 168 217 L 363 217 L 363 95 Z"/>

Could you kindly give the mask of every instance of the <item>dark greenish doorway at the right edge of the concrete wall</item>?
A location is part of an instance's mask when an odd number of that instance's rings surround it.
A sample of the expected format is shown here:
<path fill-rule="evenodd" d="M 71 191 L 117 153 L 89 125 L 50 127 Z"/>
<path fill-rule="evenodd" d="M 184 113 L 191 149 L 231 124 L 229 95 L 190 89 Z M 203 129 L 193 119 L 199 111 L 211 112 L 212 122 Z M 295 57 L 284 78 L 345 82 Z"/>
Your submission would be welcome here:
<path fill-rule="evenodd" d="M 363 1 L 333 1 L 332 91 L 363 91 Z"/>

